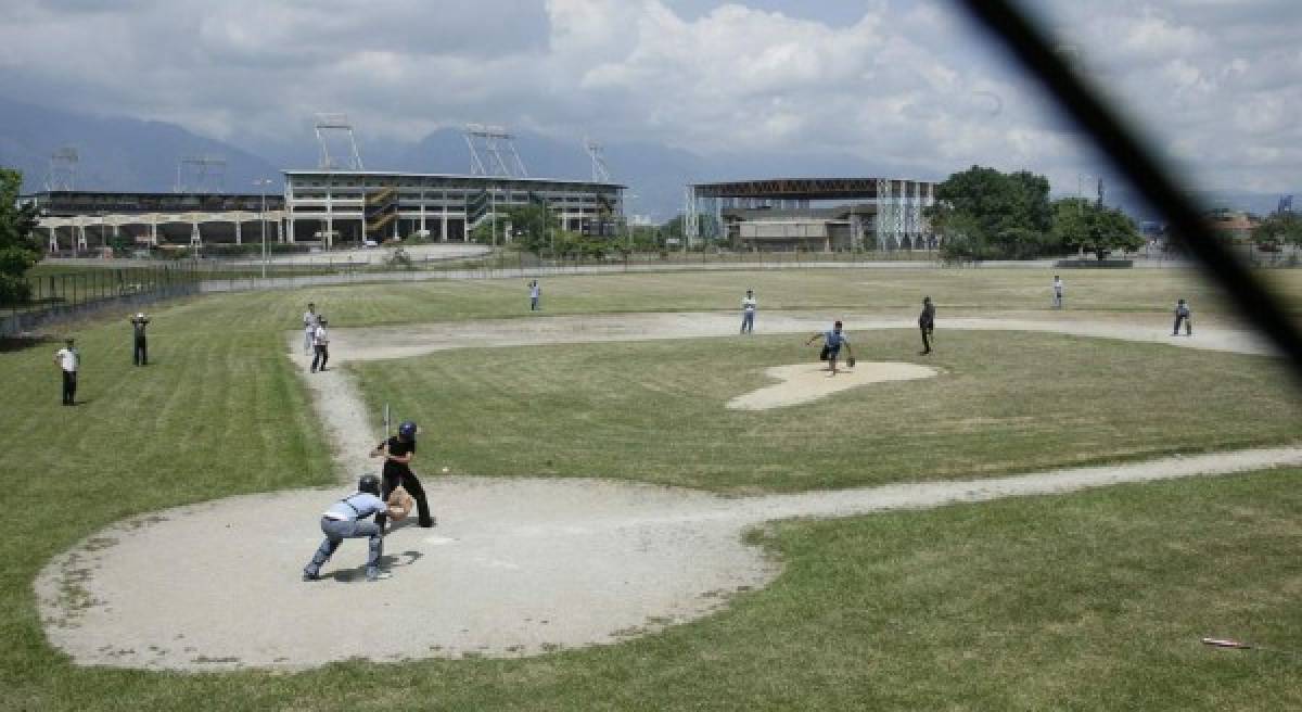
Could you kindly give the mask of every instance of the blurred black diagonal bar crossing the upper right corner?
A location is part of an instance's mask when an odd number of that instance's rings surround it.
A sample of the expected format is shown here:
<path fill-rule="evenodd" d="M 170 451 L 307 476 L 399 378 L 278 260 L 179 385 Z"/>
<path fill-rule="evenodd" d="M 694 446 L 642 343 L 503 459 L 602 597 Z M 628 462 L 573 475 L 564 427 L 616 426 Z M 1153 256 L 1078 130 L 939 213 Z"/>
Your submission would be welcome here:
<path fill-rule="evenodd" d="M 991 34 L 1008 44 L 1025 69 L 1044 83 L 1059 104 L 1090 133 L 1116 171 L 1128 178 L 1148 203 L 1165 215 L 1178 240 L 1203 268 L 1229 293 L 1240 314 L 1260 329 L 1292 361 L 1302 379 L 1302 336 L 1271 293 L 1223 245 L 1203 221 L 1193 200 L 1177 187 L 1156 154 L 1148 151 L 1112 111 L 1051 48 L 1047 35 L 1013 3 L 962 0 Z"/>

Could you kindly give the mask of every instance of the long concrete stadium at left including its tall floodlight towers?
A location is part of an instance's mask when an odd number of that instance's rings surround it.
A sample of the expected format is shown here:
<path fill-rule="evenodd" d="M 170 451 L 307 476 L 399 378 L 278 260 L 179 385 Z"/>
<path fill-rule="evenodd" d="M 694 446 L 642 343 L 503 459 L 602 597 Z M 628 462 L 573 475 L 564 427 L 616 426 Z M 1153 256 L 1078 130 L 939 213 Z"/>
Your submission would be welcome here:
<path fill-rule="evenodd" d="M 73 255 L 103 251 L 122 238 L 202 251 L 204 245 L 242 245 L 250 234 L 260 241 L 263 225 L 268 241 L 273 236 L 277 243 L 324 249 L 408 237 L 469 242 L 480 225 L 492 226 L 497 243 L 512 237 L 506 213 L 526 206 L 542 206 L 561 229 L 586 236 L 613 236 L 622 221 L 626 186 L 609 180 L 600 147 L 591 142 L 592 180 L 578 181 L 530 177 L 514 137 L 500 126 L 466 126 L 469 174 L 366 171 L 346 116 L 319 115 L 315 131 L 316 168 L 281 171 L 281 195 L 216 189 L 225 160 L 214 156 L 181 157 L 172 193 L 73 190 L 78 157 L 65 148 L 51 156 L 46 190 L 22 202 L 38 208 L 48 251 Z M 249 233 L 250 226 L 256 232 Z"/>

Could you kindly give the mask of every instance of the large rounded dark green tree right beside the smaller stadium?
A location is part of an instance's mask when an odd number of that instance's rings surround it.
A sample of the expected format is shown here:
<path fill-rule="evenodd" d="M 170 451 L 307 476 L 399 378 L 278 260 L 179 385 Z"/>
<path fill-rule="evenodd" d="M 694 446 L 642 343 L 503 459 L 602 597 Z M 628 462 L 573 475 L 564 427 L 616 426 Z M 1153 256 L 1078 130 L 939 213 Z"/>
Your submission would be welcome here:
<path fill-rule="evenodd" d="M 927 216 L 937 233 L 956 216 L 962 236 L 978 241 L 987 256 L 1032 258 L 1049 246 L 1053 212 L 1049 182 L 1026 171 L 1001 173 L 974 165 L 936 186 L 936 204 Z"/>

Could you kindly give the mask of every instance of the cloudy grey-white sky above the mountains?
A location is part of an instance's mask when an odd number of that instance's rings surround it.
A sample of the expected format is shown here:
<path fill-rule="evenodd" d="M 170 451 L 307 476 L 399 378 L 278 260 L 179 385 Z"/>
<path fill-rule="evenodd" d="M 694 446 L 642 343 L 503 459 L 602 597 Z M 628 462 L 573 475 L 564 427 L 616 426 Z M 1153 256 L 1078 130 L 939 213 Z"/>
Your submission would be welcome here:
<path fill-rule="evenodd" d="M 1302 193 L 1302 3 L 1035 7 L 1197 185 Z M 865 173 L 1030 168 L 1057 190 L 1092 171 L 947 0 L 5 0 L 4 14 L 0 95 L 242 146 L 302 141 L 314 112 L 340 111 L 409 141 L 478 121 L 793 165 L 855 156 Z"/>

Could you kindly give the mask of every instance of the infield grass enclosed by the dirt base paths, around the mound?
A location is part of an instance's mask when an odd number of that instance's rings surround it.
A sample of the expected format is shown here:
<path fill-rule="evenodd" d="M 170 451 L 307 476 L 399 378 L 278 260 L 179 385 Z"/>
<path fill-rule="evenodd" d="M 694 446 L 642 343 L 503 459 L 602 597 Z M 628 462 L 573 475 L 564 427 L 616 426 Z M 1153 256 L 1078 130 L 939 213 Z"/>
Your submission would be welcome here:
<path fill-rule="evenodd" d="M 855 354 L 865 364 L 901 359 L 914 338 L 872 332 Z M 353 367 L 371 410 L 388 398 L 434 424 L 427 441 L 461 472 L 738 493 L 1279 444 L 1302 426 L 1269 358 L 1017 332 L 950 333 L 926 359 L 939 377 L 764 411 L 724 407 L 771 384 L 767 367 L 812 359 L 799 341 L 466 349 Z"/>

